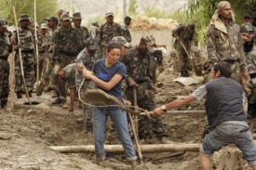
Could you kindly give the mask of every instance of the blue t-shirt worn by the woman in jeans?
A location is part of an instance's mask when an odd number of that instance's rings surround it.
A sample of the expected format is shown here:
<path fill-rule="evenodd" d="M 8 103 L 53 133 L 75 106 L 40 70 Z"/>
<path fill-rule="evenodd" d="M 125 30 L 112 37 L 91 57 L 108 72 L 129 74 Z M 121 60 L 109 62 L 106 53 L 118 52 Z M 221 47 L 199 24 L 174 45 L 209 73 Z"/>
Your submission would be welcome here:
<path fill-rule="evenodd" d="M 94 64 L 93 72 L 96 73 L 96 76 L 102 81 L 109 82 L 115 74 L 120 74 L 124 78 L 127 75 L 127 67 L 119 60 L 113 66 L 106 67 L 105 59 L 98 59 Z M 122 81 L 120 81 L 110 90 L 105 90 L 99 85 L 97 85 L 97 87 L 106 92 L 107 94 L 112 95 L 115 98 L 118 98 L 121 102 L 123 102 L 121 84 Z"/>

